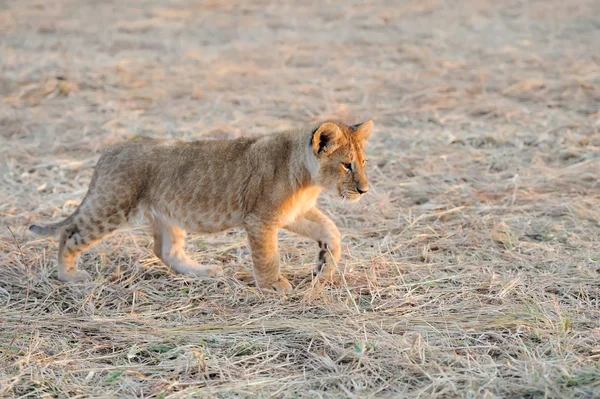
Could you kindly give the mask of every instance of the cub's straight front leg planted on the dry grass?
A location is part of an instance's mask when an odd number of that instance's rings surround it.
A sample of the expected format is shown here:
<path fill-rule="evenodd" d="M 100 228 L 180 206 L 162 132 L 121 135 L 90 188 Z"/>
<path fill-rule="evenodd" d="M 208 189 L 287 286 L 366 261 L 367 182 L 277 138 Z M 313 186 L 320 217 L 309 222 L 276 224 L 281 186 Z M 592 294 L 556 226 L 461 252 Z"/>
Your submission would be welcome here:
<path fill-rule="evenodd" d="M 292 292 L 290 282 L 279 273 L 277 228 L 263 224 L 245 226 L 254 262 L 254 280 L 261 291 Z"/>

